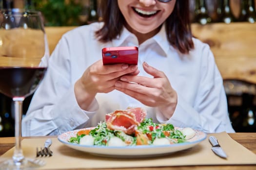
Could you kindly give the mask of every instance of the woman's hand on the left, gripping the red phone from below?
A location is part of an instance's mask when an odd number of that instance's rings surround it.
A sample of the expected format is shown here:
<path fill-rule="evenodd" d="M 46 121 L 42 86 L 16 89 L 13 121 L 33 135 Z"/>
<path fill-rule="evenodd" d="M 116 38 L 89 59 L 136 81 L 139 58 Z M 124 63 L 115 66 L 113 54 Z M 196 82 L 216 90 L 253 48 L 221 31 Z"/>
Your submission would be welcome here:
<path fill-rule="evenodd" d="M 79 106 L 86 110 L 97 93 L 108 93 L 115 89 L 115 83 L 125 74 L 137 75 L 138 66 L 127 64 L 104 65 L 98 60 L 87 68 L 75 84 L 75 95 Z"/>

